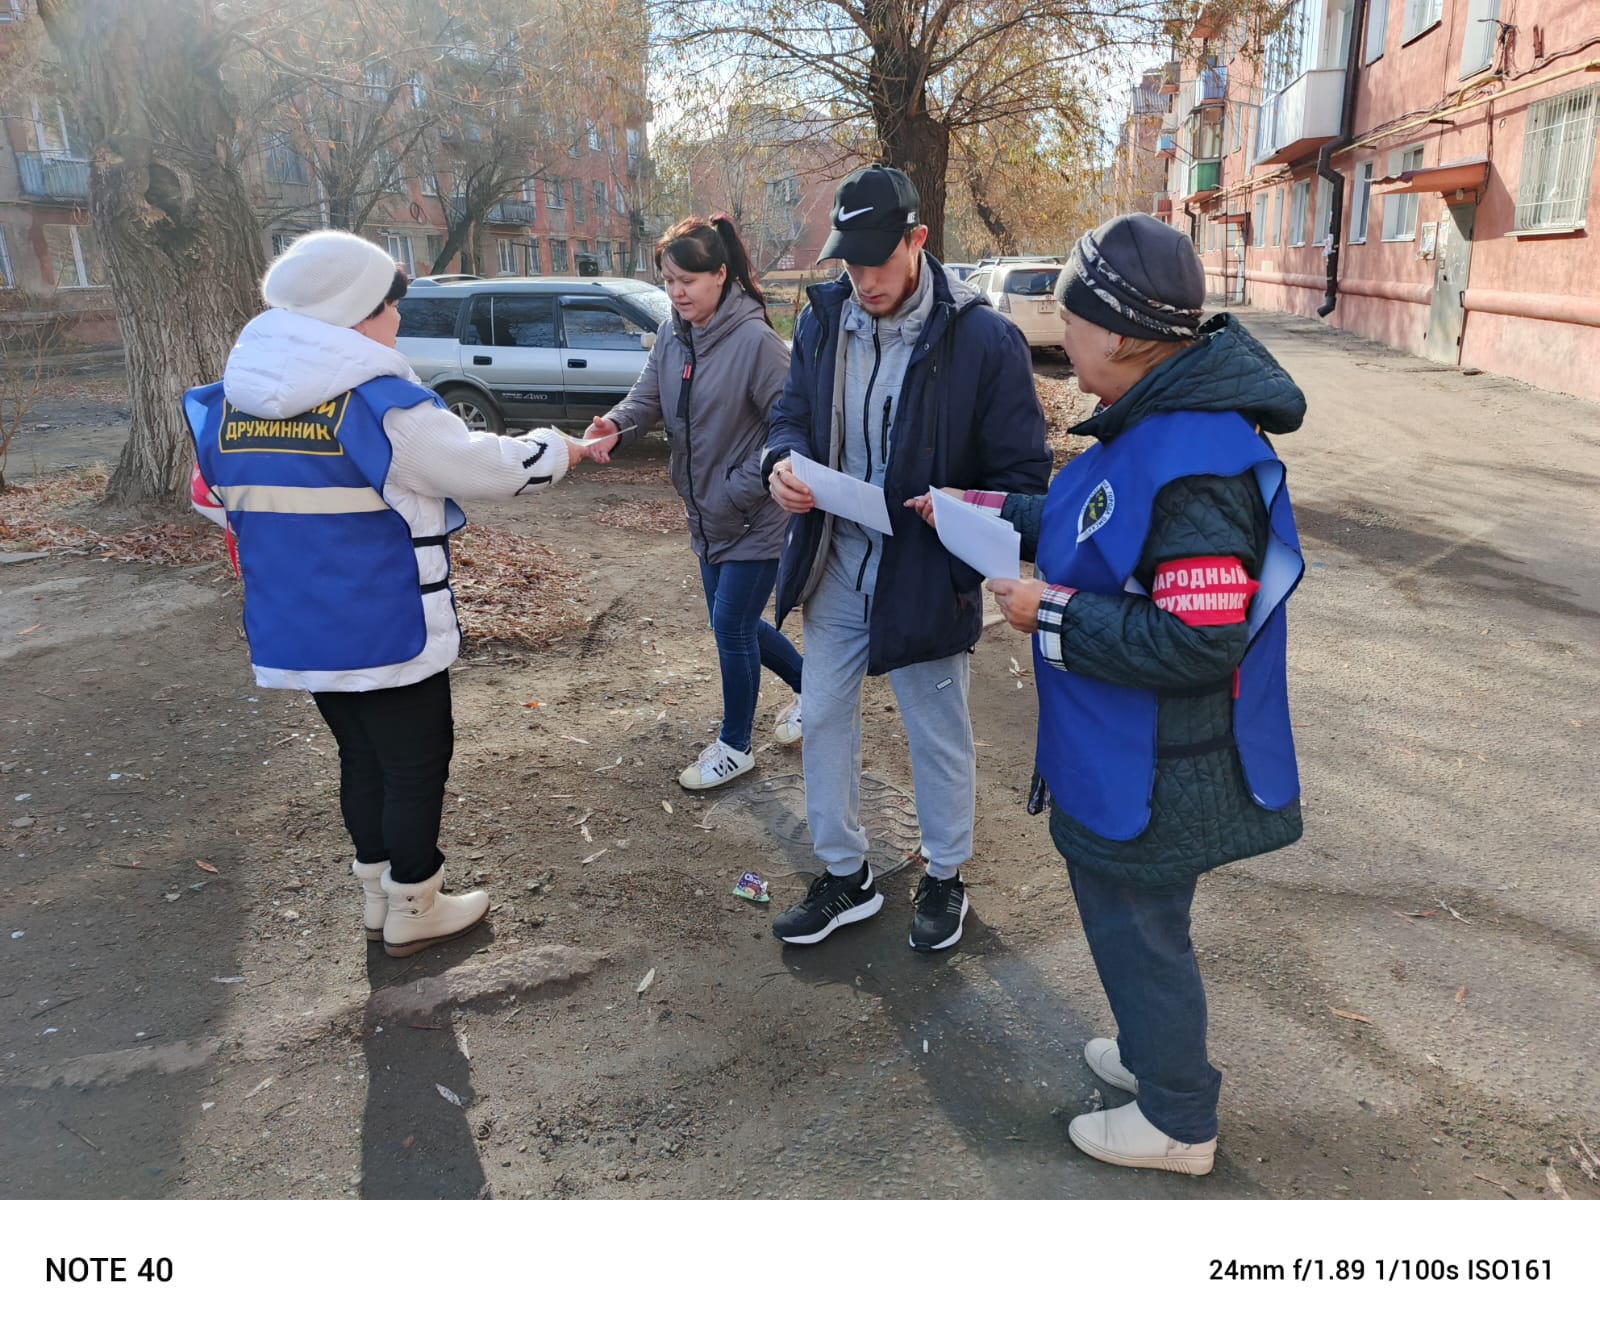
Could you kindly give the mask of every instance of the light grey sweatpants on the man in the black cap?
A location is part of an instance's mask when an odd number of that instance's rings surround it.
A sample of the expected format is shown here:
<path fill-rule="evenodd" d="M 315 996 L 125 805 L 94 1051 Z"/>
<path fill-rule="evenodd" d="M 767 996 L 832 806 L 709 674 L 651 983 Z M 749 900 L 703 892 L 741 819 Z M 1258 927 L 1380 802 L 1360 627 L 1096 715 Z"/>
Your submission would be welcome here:
<path fill-rule="evenodd" d="M 803 610 L 805 811 L 811 847 L 834 875 L 861 869 L 861 682 L 867 674 L 867 600 L 832 571 Z M 973 855 L 978 762 L 966 715 L 968 654 L 890 670 L 910 744 L 917 824 L 928 874 L 949 879 Z"/>

